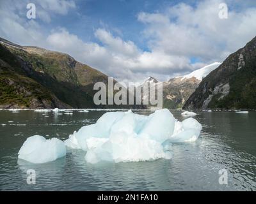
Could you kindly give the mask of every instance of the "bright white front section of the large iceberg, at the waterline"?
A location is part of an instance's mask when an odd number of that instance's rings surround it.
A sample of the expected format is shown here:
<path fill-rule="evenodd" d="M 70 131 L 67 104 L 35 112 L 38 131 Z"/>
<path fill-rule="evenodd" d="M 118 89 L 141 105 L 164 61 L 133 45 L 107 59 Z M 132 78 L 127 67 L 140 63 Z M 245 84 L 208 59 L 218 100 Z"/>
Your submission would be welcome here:
<path fill-rule="evenodd" d="M 170 152 L 164 152 L 161 143 L 155 140 L 140 138 L 136 135 L 115 135 L 107 142 L 89 149 L 85 160 L 88 163 L 99 163 L 99 161 L 119 163 L 170 159 L 171 157 Z"/>

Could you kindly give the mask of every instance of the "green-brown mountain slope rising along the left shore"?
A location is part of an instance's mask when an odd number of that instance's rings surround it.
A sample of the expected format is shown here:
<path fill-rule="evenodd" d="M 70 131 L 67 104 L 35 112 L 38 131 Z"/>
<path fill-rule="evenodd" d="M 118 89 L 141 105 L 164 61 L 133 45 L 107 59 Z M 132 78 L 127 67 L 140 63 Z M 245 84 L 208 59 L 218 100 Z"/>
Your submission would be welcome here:
<path fill-rule="evenodd" d="M 0 38 L 0 108 L 107 107 L 93 103 L 95 82 L 108 76 L 70 55 Z"/>

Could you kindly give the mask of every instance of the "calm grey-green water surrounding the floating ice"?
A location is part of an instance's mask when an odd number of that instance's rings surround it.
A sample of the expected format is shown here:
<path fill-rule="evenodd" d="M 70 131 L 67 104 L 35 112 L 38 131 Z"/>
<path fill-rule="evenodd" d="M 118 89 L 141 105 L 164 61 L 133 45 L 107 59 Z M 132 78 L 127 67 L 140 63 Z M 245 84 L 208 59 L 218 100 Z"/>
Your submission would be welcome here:
<path fill-rule="evenodd" d="M 94 123 L 104 111 L 56 115 L 23 110 L 0 111 L 0 190 L 68 191 L 230 191 L 256 190 L 256 112 L 197 112 L 203 125 L 194 143 L 172 145 L 173 158 L 138 163 L 88 164 L 85 152 L 72 150 L 46 164 L 17 159 L 28 136 L 61 140 L 81 126 Z M 150 114 L 149 111 L 140 111 Z M 172 111 L 183 120 L 180 111 Z M 220 185 L 219 170 L 228 171 L 228 185 Z M 26 183 L 27 170 L 36 171 L 36 184 Z"/>

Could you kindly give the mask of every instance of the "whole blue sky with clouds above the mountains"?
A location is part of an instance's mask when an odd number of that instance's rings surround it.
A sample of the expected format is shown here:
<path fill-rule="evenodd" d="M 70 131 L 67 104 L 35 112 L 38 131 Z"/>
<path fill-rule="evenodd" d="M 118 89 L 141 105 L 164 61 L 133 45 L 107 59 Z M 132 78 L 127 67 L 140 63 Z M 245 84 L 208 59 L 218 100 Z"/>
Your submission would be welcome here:
<path fill-rule="evenodd" d="M 222 62 L 256 36 L 255 22 L 254 0 L 0 0 L 1 38 L 65 52 L 123 82 Z"/>

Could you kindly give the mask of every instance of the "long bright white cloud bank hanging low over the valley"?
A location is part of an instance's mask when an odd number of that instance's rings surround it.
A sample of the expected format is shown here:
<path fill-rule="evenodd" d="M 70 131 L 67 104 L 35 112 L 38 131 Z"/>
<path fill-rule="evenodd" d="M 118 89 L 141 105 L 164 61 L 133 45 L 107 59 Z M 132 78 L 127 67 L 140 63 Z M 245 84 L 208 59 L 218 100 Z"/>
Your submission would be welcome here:
<path fill-rule="evenodd" d="M 175 71 L 191 69 L 189 59 L 186 57 L 166 55 L 157 51 L 143 52 L 132 41 L 114 37 L 104 29 L 97 29 L 95 36 L 101 46 L 98 43 L 84 42 L 61 28 L 52 31 L 47 38 L 47 44 L 54 50 L 62 50 L 76 56 L 77 60 L 117 77 L 118 80 L 138 80 L 136 77 L 138 73 L 168 75 L 170 69 Z"/>

